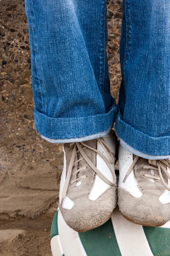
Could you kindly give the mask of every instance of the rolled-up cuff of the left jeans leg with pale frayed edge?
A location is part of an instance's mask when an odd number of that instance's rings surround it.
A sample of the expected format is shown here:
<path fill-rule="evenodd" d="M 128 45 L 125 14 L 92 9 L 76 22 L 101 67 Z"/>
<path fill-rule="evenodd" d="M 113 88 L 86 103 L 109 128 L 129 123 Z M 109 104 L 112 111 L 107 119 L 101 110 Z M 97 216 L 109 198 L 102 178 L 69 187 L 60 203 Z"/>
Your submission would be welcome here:
<path fill-rule="evenodd" d="M 84 117 L 52 118 L 34 109 L 34 122 L 36 130 L 45 140 L 70 143 L 105 136 L 115 122 L 116 113 L 116 103 L 108 113 Z"/>

